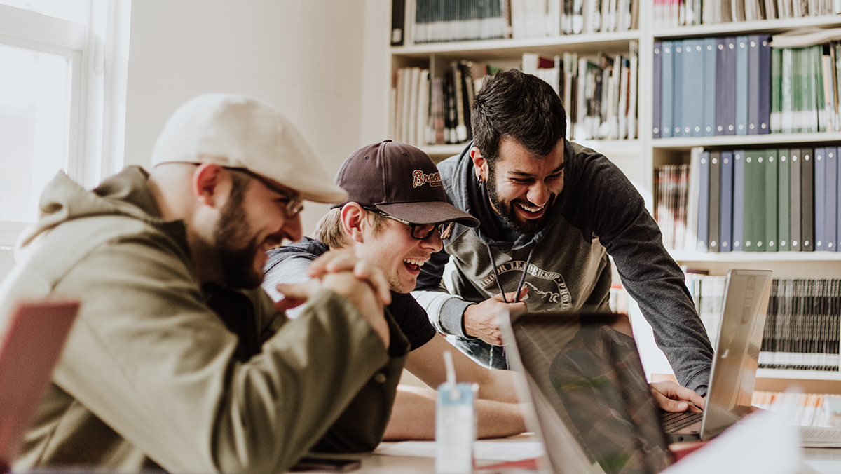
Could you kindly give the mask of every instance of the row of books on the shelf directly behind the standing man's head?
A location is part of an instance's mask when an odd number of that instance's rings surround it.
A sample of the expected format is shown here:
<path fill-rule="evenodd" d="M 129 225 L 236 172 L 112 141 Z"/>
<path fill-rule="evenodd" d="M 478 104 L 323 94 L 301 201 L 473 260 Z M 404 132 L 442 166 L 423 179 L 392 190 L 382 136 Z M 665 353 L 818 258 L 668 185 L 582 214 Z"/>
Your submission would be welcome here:
<path fill-rule="evenodd" d="M 410 145 L 466 143 L 472 139 L 470 108 L 484 77 L 500 70 L 483 61 L 433 58 L 429 69 L 394 72 L 389 115 L 394 140 Z M 521 70 L 541 77 L 561 97 L 569 140 L 637 137 L 637 45 L 628 54 L 593 58 L 575 53 L 547 57 L 523 53 Z"/>

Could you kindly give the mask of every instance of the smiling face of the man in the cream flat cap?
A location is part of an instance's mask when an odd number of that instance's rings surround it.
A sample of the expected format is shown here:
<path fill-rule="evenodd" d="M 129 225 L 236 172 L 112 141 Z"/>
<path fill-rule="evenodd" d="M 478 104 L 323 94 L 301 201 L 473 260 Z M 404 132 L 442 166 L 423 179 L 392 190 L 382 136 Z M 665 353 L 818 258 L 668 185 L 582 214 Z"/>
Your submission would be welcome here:
<path fill-rule="evenodd" d="M 262 181 L 230 172 L 230 197 L 220 210 L 214 229 L 225 285 L 252 289 L 262 283 L 267 250 L 283 239 L 300 240 L 300 215 L 286 215 L 288 196 L 269 189 Z"/>

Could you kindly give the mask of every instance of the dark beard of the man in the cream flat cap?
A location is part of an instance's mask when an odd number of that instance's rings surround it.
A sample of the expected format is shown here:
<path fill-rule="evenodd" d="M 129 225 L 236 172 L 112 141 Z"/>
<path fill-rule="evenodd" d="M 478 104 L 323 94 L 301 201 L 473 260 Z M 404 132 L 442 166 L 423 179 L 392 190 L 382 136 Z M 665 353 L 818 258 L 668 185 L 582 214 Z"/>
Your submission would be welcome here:
<path fill-rule="evenodd" d="M 234 289 L 252 290 L 260 286 L 263 280 L 262 272 L 254 270 L 254 258 L 257 257 L 257 252 L 260 252 L 260 245 L 257 237 L 254 237 L 245 247 L 235 247 L 235 242 L 246 240 L 250 232 L 246 212 L 242 206 L 247 182 L 239 186 L 236 184 L 238 183 L 234 183 L 230 199 L 220 213 L 220 223 L 214 231 L 214 242 L 225 285 Z"/>

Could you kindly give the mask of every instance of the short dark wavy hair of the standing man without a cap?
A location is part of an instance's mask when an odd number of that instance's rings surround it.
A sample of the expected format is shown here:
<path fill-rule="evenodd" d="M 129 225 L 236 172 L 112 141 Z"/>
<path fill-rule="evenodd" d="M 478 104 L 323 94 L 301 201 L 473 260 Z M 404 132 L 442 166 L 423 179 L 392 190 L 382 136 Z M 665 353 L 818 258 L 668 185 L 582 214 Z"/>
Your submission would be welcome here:
<path fill-rule="evenodd" d="M 500 140 L 513 139 L 535 157 L 552 152 L 567 133 L 567 114 L 552 86 L 512 69 L 485 77 L 470 109 L 473 140 L 493 168 Z"/>

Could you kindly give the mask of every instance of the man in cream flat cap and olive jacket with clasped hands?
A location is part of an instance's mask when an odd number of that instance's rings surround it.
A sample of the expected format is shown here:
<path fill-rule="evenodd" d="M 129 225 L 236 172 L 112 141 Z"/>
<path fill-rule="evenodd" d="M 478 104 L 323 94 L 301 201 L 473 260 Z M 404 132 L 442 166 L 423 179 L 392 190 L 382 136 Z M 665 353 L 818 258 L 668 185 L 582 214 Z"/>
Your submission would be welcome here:
<path fill-rule="evenodd" d="M 260 288 L 302 200 L 346 192 L 288 120 L 236 95 L 184 104 L 152 164 L 92 191 L 59 173 L 19 242 L 0 315 L 82 306 L 15 468 L 276 473 L 314 446 L 373 449 L 408 351 L 382 272 L 331 253 L 315 268 L 353 273 L 290 286 L 309 300 L 294 321 Z"/>

